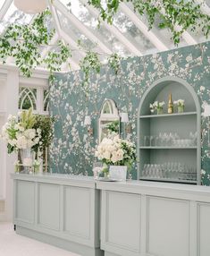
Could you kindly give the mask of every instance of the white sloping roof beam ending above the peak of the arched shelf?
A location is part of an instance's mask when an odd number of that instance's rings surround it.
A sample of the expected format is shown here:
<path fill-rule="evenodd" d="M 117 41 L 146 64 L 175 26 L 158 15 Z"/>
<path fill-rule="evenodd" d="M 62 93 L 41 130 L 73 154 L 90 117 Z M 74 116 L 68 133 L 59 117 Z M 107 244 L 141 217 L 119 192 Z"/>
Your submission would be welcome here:
<path fill-rule="evenodd" d="M 127 17 L 130 18 L 137 28 L 151 41 L 151 43 L 160 51 L 167 51 L 169 48 L 164 45 L 164 42 L 161 41 L 154 32 L 148 30 L 147 25 L 144 24 L 143 21 L 140 21 L 139 17 L 136 13 L 133 13 L 130 10 L 130 7 L 124 3 L 120 4 L 120 9 Z"/>

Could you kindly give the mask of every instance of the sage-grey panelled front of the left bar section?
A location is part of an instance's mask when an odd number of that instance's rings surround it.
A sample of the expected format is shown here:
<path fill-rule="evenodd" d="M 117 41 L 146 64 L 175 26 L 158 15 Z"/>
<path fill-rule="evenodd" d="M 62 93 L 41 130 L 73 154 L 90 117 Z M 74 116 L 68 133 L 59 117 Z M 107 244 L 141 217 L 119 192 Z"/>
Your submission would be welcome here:
<path fill-rule="evenodd" d="M 98 201 L 94 186 L 14 179 L 14 224 L 18 233 L 26 228 L 58 238 L 57 245 L 71 242 L 72 252 L 101 255 Z"/>

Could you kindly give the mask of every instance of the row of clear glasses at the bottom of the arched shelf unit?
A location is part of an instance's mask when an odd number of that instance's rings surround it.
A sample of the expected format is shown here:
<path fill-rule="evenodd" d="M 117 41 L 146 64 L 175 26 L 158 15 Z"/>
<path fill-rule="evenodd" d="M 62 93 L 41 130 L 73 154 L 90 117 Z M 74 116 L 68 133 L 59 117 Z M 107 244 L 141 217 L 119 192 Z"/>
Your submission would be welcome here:
<path fill-rule="evenodd" d="M 197 180 L 197 171 L 194 167 L 181 163 L 145 164 L 142 170 L 143 177 L 156 179 Z"/>

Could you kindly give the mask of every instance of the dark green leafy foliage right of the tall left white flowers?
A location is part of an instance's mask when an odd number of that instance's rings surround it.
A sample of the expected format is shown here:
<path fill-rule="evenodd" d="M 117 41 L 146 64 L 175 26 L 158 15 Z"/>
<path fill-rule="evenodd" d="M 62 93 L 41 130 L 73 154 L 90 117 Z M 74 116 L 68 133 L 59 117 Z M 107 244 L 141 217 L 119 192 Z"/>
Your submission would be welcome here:
<path fill-rule="evenodd" d="M 53 124 L 55 122 L 55 117 L 47 115 L 36 115 L 35 124 L 33 125 L 34 129 L 41 130 L 41 138 L 39 142 L 39 150 L 44 151 L 48 148 L 53 140 Z"/>

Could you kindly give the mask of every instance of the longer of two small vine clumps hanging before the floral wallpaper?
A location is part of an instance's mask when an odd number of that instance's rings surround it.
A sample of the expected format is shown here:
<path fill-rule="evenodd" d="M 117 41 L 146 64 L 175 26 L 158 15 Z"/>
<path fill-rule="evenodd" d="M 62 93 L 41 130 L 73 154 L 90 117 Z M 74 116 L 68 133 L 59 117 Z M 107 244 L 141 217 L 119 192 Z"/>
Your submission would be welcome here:
<path fill-rule="evenodd" d="M 101 70 L 98 54 L 89 50 L 87 55 L 80 61 L 80 69 L 84 73 L 83 86 L 88 87 L 90 73 L 100 73 Z"/>

